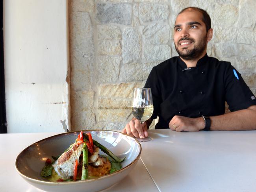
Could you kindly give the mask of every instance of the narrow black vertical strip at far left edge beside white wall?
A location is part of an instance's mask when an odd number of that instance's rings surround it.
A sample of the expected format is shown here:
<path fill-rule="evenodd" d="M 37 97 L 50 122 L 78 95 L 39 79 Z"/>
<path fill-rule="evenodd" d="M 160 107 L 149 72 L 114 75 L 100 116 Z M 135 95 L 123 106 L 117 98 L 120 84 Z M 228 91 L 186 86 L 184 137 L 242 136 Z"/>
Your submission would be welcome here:
<path fill-rule="evenodd" d="M 0 133 L 7 133 L 6 96 L 4 89 L 4 31 L 3 1 L 0 1 Z"/>

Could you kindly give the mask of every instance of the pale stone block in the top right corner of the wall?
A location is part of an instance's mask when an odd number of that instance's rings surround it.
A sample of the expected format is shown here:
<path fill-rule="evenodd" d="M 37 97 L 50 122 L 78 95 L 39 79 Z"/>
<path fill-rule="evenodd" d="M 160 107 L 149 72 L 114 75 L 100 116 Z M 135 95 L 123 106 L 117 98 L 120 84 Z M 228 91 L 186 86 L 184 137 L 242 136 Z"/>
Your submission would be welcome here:
<path fill-rule="evenodd" d="M 241 28 L 255 28 L 256 3 L 255 0 L 240 0 L 238 26 Z"/>

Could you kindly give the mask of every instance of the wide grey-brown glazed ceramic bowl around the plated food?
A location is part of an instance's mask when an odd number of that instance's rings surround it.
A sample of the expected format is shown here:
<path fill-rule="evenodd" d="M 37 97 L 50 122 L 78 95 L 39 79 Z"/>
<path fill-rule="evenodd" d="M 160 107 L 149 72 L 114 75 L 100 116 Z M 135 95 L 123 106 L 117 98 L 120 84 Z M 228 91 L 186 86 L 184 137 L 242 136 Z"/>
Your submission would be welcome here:
<path fill-rule="evenodd" d="M 58 156 L 74 142 L 80 131 L 67 132 L 45 138 L 28 146 L 17 156 L 17 172 L 31 185 L 49 192 L 93 192 L 108 188 L 121 181 L 134 168 L 141 155 L 141 145 L 135 139 L 116 131 L 86 130 L 94 140 L 104 145 L 117 157 L 125 157 L 122 169 L 112 174 L 85 181 L 50 182 L 40 175 L 45 161 Z M 104 154 L 102 151 L 100 154 Z"/>

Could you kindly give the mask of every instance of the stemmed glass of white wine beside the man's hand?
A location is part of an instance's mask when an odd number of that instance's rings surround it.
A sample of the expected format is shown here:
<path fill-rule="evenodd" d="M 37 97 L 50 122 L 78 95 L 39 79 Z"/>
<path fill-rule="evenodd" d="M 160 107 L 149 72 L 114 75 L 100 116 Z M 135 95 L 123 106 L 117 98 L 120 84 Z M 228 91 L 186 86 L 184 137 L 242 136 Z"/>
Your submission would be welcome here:
<path fill-rule="evenodd" d="M 134 88 L 132 115 L 143 124 L 153 114 L 151 88 Z M 150 141 L 151 137 L 137 138 L 138 141 Z"/>

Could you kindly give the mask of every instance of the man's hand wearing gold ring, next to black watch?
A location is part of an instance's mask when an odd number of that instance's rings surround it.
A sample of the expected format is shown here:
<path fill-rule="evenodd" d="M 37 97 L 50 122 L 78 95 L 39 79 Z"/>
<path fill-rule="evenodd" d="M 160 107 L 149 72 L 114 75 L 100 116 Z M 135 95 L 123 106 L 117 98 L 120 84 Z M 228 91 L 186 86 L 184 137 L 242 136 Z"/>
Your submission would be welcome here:
<path fill-rule="evenodd" d="M 184 116 L 175 115 L 169 122 L 169 128 L 173 131 L 200 131 L 204 129 L 205 122 L 202 117 L 189 118 Z"/>

